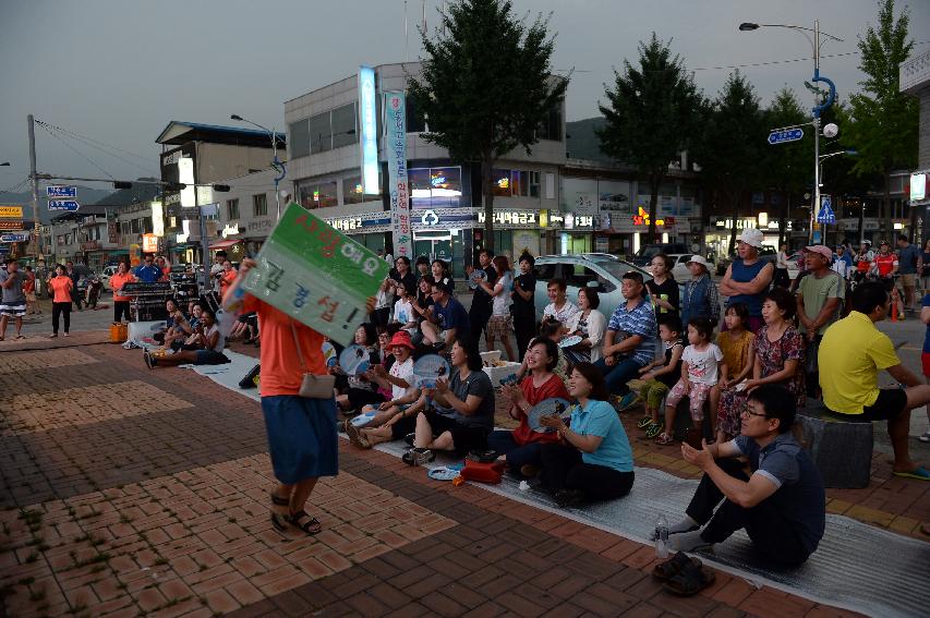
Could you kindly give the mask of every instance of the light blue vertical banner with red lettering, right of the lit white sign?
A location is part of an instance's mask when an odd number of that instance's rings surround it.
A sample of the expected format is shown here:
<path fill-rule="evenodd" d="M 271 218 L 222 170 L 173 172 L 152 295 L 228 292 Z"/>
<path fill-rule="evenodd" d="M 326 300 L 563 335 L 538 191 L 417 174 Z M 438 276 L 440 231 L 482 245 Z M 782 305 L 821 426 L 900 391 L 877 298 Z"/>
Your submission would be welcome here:
<path fill-rule="evenodd" d="M 410 184 L 407 181 L 407 109 L 403 93 L 385 93 L 388 187 L 390 222 L 394 231 L 394 256 L 413 256 L 410 229 Z"/>

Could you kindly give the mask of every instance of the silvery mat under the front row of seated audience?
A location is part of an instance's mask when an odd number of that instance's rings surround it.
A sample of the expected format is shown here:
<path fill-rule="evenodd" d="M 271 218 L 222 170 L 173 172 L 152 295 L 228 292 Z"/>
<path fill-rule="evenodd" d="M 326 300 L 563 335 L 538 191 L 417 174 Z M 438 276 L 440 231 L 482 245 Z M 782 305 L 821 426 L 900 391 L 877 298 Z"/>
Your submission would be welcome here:
<path fill-rule="evenodd" d="M 400 457 L 406 445 L 395 441 L 375 448 Z M 454 461 L 440 456 L 428 468 Z M 423 473 L 426 474 L 425 469 Z M 628 496 L 572 509 L 558 508 L 548 494 L 539 489 L 521 492 L 519 482 L 508 474 L 499 485 L 475 485 L 585 525 L 649 543 L 648 535 L 655 528 L 659 513 L 664 512 L 669 522 L 677 521 L 698 482 L 662 470 L 637 468 Z M 826 516 L 826 531 L 818 550 L 796 569 L 773 569 L 763 564 L 742 532 L 718 544 L 713 553 L 703 553 L 701 559 L 757 587 L 771 585 L 816 603 L 883 618 L 930 615 L 926 580 L 930 543 L 842 516 Z"/>

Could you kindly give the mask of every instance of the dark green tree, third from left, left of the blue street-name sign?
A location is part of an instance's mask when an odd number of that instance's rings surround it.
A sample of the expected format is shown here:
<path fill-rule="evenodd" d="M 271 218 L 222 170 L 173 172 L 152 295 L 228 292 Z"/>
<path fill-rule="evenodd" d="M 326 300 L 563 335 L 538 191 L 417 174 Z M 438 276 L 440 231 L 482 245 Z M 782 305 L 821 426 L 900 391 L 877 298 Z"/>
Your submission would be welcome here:
<path fill-rule="evenodd" d="M 740 199 L 762 182 L 769 125 L 752 84 L 739 71 L 729 74 L 705 118 L 695 142 L 695 160 L 705 183 L 730 207 L 734 226 L 727 251 L 733 253 Z"/>

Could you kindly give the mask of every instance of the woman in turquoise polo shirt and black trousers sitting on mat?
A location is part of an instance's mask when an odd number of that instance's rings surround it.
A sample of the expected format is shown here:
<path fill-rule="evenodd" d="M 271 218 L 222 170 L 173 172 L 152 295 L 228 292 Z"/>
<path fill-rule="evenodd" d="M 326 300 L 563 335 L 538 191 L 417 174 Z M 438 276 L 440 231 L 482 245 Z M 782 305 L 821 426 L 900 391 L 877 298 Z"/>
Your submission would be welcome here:
<path fill-rule="evenodd" d="M 607 403 L 604 377 L 593 364 L 578 363 L 568 392 L 578 401 L 570 426 L 558 416 L 540 421 L 561 438 L 543 445 L 543 484 L 560 507 L 626 496 L 633 484 L 632 449 L 617 412 Z"/>

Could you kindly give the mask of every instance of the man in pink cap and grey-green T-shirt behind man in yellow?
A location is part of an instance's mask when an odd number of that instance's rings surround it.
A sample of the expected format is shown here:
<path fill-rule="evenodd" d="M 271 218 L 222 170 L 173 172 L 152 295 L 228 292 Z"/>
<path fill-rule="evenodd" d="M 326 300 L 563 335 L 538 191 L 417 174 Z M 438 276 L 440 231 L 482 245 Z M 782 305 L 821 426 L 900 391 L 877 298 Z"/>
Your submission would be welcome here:
<path fill-rule="evenodd" d="M 840 274 L 830 268 L 833 262 L 830 247 L 822 244 L 806 246 L 804 256 L 808 276 L 798 286 L 798 320 L 808 342 L 808 395 L 818 397 L 820 377 L 817 371 L 817 349 L 828 327 L 840 319 L 840 307 L 846 298 L 846 283 Z"/>

